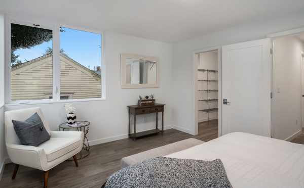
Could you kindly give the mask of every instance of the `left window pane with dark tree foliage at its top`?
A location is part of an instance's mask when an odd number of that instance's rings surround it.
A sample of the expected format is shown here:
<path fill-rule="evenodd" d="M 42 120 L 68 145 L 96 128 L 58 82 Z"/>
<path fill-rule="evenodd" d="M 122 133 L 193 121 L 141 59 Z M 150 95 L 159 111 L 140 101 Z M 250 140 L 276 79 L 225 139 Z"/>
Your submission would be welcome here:
<path fill-rule="evenodd" d="M 52 39 L 52 30 L 11 24 L 12 101 L 52 95 Z"/>

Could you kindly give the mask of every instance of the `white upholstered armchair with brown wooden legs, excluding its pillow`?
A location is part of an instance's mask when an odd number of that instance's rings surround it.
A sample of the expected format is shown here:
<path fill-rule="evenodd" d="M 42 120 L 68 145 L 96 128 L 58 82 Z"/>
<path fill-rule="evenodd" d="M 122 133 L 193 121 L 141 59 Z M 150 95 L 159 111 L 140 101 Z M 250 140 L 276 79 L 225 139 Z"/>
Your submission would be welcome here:
<path fill-rule="evenodd" d="M 35 112 L 41 117 L 51 138 L 45 143 L 33 147 L 20 145 L 12 120 L 25 121 Z M 79 131 L 51 131 L 40 108 L 30 108 L 5 112 L 6 147 L 9 157 L 15 163 L 12 179 L 16 177 L 19 165 L 43 170 L 44 186 L 48 186 L 49 170 L 68 158 L 73 157 L 78 166 L 76 154 L 82 149 L 84 133 Z"/>

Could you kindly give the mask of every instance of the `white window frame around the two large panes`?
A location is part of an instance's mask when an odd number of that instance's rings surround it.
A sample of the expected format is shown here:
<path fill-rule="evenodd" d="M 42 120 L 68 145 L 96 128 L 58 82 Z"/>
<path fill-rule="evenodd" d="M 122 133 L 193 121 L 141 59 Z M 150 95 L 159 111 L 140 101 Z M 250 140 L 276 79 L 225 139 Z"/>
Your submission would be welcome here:
<path fill-rule="evenodd" d="M 40 100 L 11 100 L 11 24 L 20 24 L 31 27 L 50 29 L 53 34 L 53 99 L 40 99 Z M 34 26 L 33 24 L 39 24 L 40 26 Z M 104 33 L 100 31 L 94 31 L 84 28 L 73 27 L 64 24 L 45 24 L 41 25 L 40 23 L 31 21 L 25 22 L 20 21 L 19 19 L 11 19 L 7 17 L 5 23 L 5 38 L 6 38 L 6 60 L 5 60 L 5 103 L 6 106 L 10 105 L 28 105 L 28 104 L 45 104 L 45 103 L 67 103 L 67 102 L 82 102 L 82 101 L 99 101 L 106 99 L 106 64 L 104 58 L 105 52 L 105 40 Z M 60 27 L 65 27 L 69 29 L 77 29 L 80 31 L 92 32 L 101 34 L 101 98 L 88 98 L 88 99 L 68 99 L 68 100 L 60 100 Z"/>

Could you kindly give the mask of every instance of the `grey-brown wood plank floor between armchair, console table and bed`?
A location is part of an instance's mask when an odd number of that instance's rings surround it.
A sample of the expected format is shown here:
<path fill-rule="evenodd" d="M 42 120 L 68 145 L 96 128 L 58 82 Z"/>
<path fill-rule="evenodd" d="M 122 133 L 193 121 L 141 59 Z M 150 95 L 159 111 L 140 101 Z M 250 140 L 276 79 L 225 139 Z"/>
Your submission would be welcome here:
<path fill-rule="evenodd" d="M 66 161 L 51 169 L 49 187 L 101 187 L 110 174 L 120 169 L 120 160 L 123 157 L 190 137 L 207 142 L 217 135 L 217 121 L 210 121 L 209 124 L 199 124 L 197 136 L 168 129 L 163 135 L 139 138 L 136 142 L 127 138 L 92 146 L 90 155 L 79 160 L 79 167 L 75 167 L 73 161 Z M 20 165 L 16 179 L 12 180 L 13 170 L 14 164 L 5 166 L 0 187 L 43 187 L 42 171 Z"/>

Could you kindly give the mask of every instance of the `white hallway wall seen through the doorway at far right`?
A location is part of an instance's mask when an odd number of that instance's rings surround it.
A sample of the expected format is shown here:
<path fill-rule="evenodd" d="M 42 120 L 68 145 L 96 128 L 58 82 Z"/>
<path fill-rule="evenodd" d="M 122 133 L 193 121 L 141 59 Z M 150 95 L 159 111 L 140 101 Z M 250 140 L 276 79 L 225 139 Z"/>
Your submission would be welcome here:
<path fill-rule="evenodd" d="M 274 40 L 272 129 L 273 136 L 286 139 L 301 130 L 301 52 L 296 36 Z"/>

